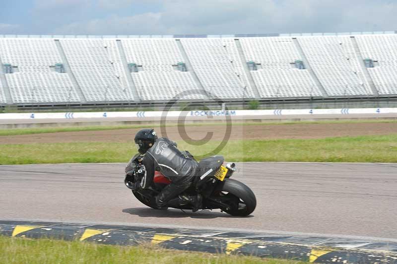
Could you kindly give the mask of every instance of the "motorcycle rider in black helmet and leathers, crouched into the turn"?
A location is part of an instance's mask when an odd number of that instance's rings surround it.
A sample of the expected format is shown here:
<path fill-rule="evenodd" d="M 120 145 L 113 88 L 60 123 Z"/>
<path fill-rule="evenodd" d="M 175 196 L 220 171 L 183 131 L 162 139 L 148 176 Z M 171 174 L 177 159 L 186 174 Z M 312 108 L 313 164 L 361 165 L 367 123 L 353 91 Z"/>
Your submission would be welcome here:
<path fill-rule="evenodd" d="M 193 156 L 188 151 L 180 151 L 174 141 L 157 137 L 153 129 L 140 130 L 136 133 L 134 141 L 139 153 L 143 155 L 142 164 L 146 170 L 146 176 L 140 186 L 147 189 L 152 185 L 154 170 L 160 171 L 171 181 L 156 196 L 157 206 L 178 207 L 191 203 L 193 211 L 197 211 L 201 207 L 201 195 L 181 195 L 192 185 L 197 172 L 198 163 Z"/>

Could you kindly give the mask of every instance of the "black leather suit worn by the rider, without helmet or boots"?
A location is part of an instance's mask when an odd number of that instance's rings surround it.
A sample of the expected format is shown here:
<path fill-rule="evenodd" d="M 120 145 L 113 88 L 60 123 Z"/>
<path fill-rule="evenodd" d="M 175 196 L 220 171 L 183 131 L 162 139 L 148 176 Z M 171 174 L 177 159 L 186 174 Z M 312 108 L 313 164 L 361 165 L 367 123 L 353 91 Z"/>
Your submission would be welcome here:
<path fill-rule="evenodd" d="M 167 185 L 156 197 L 159 207 L 166 204 L 173 206 L 168 202 L 179 202 L 178 199 L 173 198 L 191 186 L 198 168 L 196 160 L 185 152 L 181 152 L 175 142 L 163 137 L 159 137 L 146 151 L 142 164 L 146 169 L 145 181 L 142 183 L 144 189 L 152 185 L 154 170 L 160 171 L 171 181 L 171 184 Z"/>

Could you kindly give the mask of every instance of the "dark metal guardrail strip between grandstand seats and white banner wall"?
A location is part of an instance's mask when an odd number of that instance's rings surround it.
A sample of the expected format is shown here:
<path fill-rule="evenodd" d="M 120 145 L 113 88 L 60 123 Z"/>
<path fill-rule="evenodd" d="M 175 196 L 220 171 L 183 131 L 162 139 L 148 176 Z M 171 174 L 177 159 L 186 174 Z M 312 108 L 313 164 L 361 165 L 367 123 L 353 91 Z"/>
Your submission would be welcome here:
<path fill-rule="evenodd" d="M 229 109 L 249 108 L 249 99 L 224 100 Z M 267 98 L 259 99 L 260 109 L 301 109 L 301 108 L 371 108 L 371 107 L 397 107 L 397 95 L 391 96 L 357 96 L 357 97 L 315 97 L 315 98 Z M 205 102 L 200 100 L 190 101 L 150 101 L 150 102 L 95 102 L 95 103 L 26 103 L 15 104 L 9 107 L 19 111 L 61 111 L 67 112 L 94 110 L 94 109 L 131 109 L 131 111 L 153 111 L 162 110 L 167 104 L 171 103 L 172 110 L 179 110 L 188 103 L 189 108 L 200 108 L 205 105 L 210 109 L 220 109 L 220 102 Z M 4 111 L 5 105 L 0 105 L 0 111 Z M 170 110 L 171 110 L 170 109 Z"/>

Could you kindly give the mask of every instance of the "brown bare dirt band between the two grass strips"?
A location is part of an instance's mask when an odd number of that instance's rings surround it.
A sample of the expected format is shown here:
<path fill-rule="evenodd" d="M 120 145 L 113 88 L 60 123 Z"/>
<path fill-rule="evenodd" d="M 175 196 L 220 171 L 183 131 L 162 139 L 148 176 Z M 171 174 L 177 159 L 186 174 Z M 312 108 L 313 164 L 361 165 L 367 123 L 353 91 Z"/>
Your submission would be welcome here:
<path fill-rule="evenodd" d="M 154 129 L 163 135 L 159 127 Z M 212 140 L 223 139 L 226 126 L 170 127 L 167 136 L 175 141 L 181 139 L 199 140 L 210 133 Z M 57 142 L 126 142 L 133 139 L 139 129 L 57 132 L 26 135 L 0 136 L 0 144 L 57 143 Z M 282 138 L 324 138 L 332 136 L 383 135 L 397 133 L 397 123 L 330 123 L 293 125 L 234 125 L 230 139 L 282 139 Z"/>

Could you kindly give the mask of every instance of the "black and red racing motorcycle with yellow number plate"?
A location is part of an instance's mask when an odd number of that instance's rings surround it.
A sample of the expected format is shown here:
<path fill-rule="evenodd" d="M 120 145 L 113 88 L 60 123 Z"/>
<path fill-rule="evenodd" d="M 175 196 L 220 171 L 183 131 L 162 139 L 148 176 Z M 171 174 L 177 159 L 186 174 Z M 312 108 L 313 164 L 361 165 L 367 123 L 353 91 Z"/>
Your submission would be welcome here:
<path fill-rule="evenodd" d="M 155 197 L 171 182 L 161 172 L 155 171 L 153 184 L 149 189 L 142 189 L 136 183 L 141 183 L 145 177 L 145 168 L 141 163 L 143 156 L 136 154 L 126 166 L 125 185 L 140 202 L 154 209 L 158 208 Z M 250 215 L 257 205 L 254 193 L 245 184 L 230 179 L 236 171 L 234 163 L 224 164 L 221 155 L 204 158 L 199 161 L 198 172 L 192 186 L 185 195 L 202 195 L 201 209 L 220 209 L 234 216 Z M 191 204 L 174 207 L 177 209 L 192 209 Z M 167 209 L 167 208 L 161 208 Z"/>

